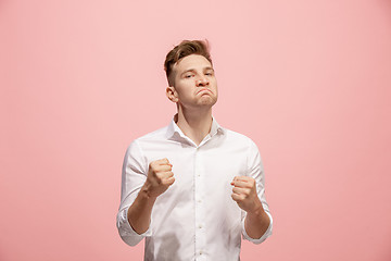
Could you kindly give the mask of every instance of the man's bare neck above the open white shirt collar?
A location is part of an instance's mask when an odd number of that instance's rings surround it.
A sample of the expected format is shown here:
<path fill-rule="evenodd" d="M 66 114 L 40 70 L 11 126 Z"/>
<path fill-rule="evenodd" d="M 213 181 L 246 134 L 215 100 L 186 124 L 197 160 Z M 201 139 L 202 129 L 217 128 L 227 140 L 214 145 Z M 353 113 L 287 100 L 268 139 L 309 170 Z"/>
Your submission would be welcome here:
<path fill-rule="evenodd" d="M 212 107 L 197 111 L 189 111 L 178 107 L 177 125 L 187 137 L 199 146 L 211 132 Z"/>

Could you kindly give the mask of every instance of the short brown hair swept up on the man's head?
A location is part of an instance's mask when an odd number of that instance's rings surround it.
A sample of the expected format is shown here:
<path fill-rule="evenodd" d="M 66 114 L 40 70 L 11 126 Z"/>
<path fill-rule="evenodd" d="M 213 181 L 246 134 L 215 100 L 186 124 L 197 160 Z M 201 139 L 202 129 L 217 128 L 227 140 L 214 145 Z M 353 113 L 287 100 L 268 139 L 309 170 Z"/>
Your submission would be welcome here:
<path fill-rule="evenodd" d="M 190 54 L 200 54 L 207 59 L 212 64 L 211 53 L 209 50 L 207 40 L 184 40 L 178 46 L 174 47 L 164 61 L 164 70 L 166 72 L 167 80 L 171 84 L 169 76 L 173 72 L 173 66 L 180 59 L 188 57 Z"/>

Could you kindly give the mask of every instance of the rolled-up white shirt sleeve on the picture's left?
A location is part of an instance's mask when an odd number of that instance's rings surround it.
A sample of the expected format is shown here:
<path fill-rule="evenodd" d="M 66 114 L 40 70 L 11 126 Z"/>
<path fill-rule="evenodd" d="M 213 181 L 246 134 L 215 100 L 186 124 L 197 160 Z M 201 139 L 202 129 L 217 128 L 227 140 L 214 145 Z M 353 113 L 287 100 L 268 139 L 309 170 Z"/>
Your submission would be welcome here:
<path fill-rule="evenodd" d="M 116 226 L 121 238 L 129 246 L 136 246 L 146 236 L 151 236 L 151 225 L 143 234 L 137 234 L 130 226 L 127 213 L 147 179 L 148 164 L 137 140 L 128 147 L 122 171 L 121 204 Z M 152 222 L 152 221 L 151 221 Z"/>

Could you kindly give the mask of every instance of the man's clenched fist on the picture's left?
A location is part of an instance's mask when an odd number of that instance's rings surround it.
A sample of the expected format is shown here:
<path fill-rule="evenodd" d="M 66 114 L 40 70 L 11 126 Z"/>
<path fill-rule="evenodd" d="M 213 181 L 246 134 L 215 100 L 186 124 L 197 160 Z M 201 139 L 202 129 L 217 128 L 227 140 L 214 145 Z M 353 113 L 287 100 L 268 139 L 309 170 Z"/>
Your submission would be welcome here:
<path fill-rule="evenodd" d="M 156 198 L 175 182 L 173 165 L 164 158 L 162 160 L 152 161 L 149 164 L 148 177 L 144 183 L 149 197 Z"/>

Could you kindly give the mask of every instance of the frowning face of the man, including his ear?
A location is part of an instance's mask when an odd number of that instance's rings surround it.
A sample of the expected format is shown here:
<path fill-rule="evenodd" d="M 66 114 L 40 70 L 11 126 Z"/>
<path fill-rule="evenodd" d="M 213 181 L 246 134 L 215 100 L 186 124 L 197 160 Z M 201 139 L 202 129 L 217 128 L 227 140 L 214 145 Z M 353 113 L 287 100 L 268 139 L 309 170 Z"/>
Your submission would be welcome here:
<path fill-rule="evenodd" d="M 172 85 L 166 94 L 169 100 L 186 109 L 207 108 L 217 101 L 217 82 L 206 58 L 191 54 L 173 66 Z"/>

